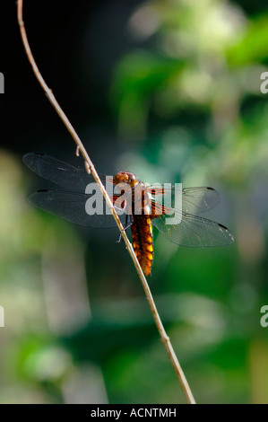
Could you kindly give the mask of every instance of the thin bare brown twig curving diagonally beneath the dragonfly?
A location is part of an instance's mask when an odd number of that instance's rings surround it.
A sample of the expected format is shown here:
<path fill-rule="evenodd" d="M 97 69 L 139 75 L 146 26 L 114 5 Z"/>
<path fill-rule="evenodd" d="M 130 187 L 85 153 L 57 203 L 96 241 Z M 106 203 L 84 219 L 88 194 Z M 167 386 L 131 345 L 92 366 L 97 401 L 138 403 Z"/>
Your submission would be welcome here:
<path fill-rule="evenodd" d="M 23 43 L 23 46 L 25 48 L 26 55 L 27 55 L 27 57 L 30 61 L 30 65 L 32 67 L 34 75 L 37 77 L 39 84 L 41 85 L 44 92 L 46 93 L 48 100 L 50 101 L 50 103 L 52 104 L 54 109 L 56 110 L 59 118 L 62 119 L 62 121 L 65 124 L 65 127 L 70 132 L 70 135 L 73 137 L 73 140 L 74 140 L 75 144 L 77 145 L 76 155 L 82 154 L 82 157 L 83 157 L 84 162 L 85 162 L 86 171 L 91 172 L 93 178 L 98 183 L 99 189 L 101 190 L 105 200 L 108 203 L 108 207 L 110 208 L 110 210 L 111 210 L 111 212 L 112 212 L 112 214 L 113 214 L 113 216 L 114 216 L 114 218 L 117 222 L 117 226 L 120 230 L 120 233 L 122 234 L 122 237 L 125 241 L 126 249 L 129 252 L 131 259 L 134 262 L 134 266 L 137 270 L 138 276 L 141 279 L 143 289 L 144 289 L 146 298 L 148 300 L 153 319 L 154 319 L 156 326 L 157 326 L 159 333 L 160 333 L 161 341 L 162 341 L 162 343 L 163 343 L 163 345 L 164 345 L 164 347 L 165 347 L 165 349 L 168 353 L 169 360 L 170 360 L 171 364 L 173 365 L 175 373 L 177 374 L 177 378 L 178 378 L 178 380 L 181 384 L 181 388 L 182 388 L 182 390 L 183 390 L 183 392 L 186 396 L 186 400 L 190 404 L 195 404 L 194 396 L 193 396 L 192 391 L 191 391 L 191 389 L 188 385 L 188 382 L 186 380 L 186 376 L 185 376 L 181 366 L 178 363 L 177 356 L 176 356 L 174 349 L 173 349 L 173 347 L 170 343 L 169 336 L 167 335 L 167 333 L 166 333 L 166 331 L 163 327 L 162 321 L 160 320 L 160 315 L 159 315 L 159 313 L 156 309 L 156 305 L 153 301 L 151 291 L 150 291 L 150 288 L 147 284 L 146 278 L 144 277 L 143 270 L 142 270 L 142 268 L 139 264 L 138 259 L 136 258 L 135 254 L 134 254 L 133 246 L 132 246 L 131 242 L 129 242 L 128 237 L 125 234 L 124 227 L 123 227 L 123 225 L 121 224 L 121 222 L 118 218 L 116 210 L 113 207 L 113 204 L 112 204 L 112 202 L 111 202 L 111 200 L 108 196 L 106 189 L 104 188 L 103 184 L 101 183 L 101 180 L 99 179 L 99 174 L 95 170 L 95 167 L 94 167 L 93 163 L 91 162 L 91 159 L 90 159 L 89 155 L 87 154 L 87 151 L 84 148 L 81 139 L 76 134 L 76 132 L 75 132 L 71 122 L 69 121 L 69 119 L 66 117 L 64 110 L 61 109 L 60 105 L 56 101 L 56 98 L 55 98 L 53 92 L 51 91 L 51 89 L 48 88 L 48 85 L 46 84 L 42 75 L 39 72 L 39 68 L 36 65 L 35 59 L 32 56 L 32 53 L 30 51 L 30 45 L 29 45 L 28 38 L 27 38 L 27 34 L 26 34 L 26 31 L 25 31 L 23 18 L 22 18 L 22 4 L 23 4 L 23 0 L 18 0 L 18 8 L 17 8 L 18 23 L 19 23 L 19 27 L 20 27 L 20 31 L 21 31 L 21 35 L 22 35 L 22 43 Z"/>

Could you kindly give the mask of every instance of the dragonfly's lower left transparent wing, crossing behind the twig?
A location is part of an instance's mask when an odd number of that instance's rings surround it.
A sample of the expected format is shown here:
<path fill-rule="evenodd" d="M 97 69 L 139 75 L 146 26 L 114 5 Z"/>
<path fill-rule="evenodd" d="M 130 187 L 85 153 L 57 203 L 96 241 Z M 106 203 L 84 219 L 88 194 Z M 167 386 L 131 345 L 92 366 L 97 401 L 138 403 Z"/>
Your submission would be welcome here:
<path fill-rule="evenodd" d="M 102 197 L 100 191 L 99 196 Z M 90 227 L 113 227 L 117 225 L 113 215 L 110 214 L 110 211 L 108 210 L 108 212 L 106 212 L 106 202 L 103 198 L 99 198 L 103 203 L 103 214 L 87 214 L 86 202 L 89 198 L 91 198 L 91 195 L 80 192 L 46 189 L 31 194 L 29 201 L 33 206 L 43 209 L 50 214 L 58 215 L 75 224 Z M 125 224 L 125 215 L 118 216 L 122 224 Z"/>

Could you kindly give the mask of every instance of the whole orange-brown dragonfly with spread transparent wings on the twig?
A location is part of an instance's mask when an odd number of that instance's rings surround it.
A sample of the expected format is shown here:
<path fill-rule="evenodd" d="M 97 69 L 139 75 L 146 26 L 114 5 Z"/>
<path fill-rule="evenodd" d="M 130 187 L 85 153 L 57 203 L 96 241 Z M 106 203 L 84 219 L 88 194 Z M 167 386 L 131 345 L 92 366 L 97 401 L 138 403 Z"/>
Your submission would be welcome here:
<path fill-rule="evenodd" d="M 64 163 L 43 153 L 25 154 L 22 159 L 31 171 L 49 180 L 61 189 L 41 189 L 29 197 L 30 204 L 58 215 L 74 224 L 108 228 L 116 226 L 116 221 L 109 209 L 104 213 L 89 213 L 87 203 L 92 199 L 92 192 L 86 187 L 95 183 L 91 174 L 83 168 Z M 156 227 L 170 242 L 186 247 L 212 247 L 229 245 L 234 236 L 223 224 L 204 218 L 204 212 L 220 203 L 220 194 L 209 187 L 181 189 L 180 206 L 177 207 L 177 189 L 175 185 L 162 188 L 160 185 L 148 185 L 138 180 L 130 171 L 119 171 L 115 176 L 100 175 L 104 186 L 112 188 L 110 199 L 116 208 L 124 230 L 131 228 L 134 252 L 145 276 L 151 274 L 154 256 L 152 226 Z M 129 188 L 116 191 L 117 186 Z M 95 186 L 95 185 L 94 185 Z M 165 185 L 163 185 L 165 186 Z M 116 188 L 116 189 L 115 189 Z M 120 190 L 120 189 L 119 189 Z M 96 185 L 94 200 L 103 200 Z M 170 207 L 163 203 L 169 194 Z M 118 199 L 121 198 L 121 202 Z M 139 198 L 139 207 L 136 207 Z M 149 204 L 149 205 L 148 205 Z M 171 215 L 179 215 L 177 224 L 169 224 Z"/>

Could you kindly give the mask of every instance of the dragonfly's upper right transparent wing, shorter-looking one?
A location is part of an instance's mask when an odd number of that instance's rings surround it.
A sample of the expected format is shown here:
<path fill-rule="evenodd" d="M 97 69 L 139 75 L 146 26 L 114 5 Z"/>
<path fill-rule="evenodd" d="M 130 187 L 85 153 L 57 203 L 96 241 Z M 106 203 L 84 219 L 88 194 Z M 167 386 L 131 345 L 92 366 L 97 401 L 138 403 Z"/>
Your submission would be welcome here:
<path fill-rule="evenodd" d="M 165 189 L 149 188 L 157 203 L 163 204 L 164 192 L 170 198 L 171 207 L 176 206 L 175 186 Z M 207 187 L 182 189 L 182 212 L 186 214 L 201 214 L 216 207 L 220 203 L 220 194 L 217 190 Z M 180 210 L 179 210 L 180 211 Z"/>

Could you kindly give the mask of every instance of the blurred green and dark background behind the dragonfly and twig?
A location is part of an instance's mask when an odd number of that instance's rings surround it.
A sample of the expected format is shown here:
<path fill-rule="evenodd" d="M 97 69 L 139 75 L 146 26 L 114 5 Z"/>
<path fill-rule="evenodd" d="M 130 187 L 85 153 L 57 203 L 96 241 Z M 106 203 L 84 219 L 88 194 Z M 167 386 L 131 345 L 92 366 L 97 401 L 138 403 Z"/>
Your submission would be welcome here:
<path fill-rule="evenodd" d="M 98 171 L 212 186 L 229 247 L 155 233 L 151 292 L 198 403 L 268 403 L 268 10 L 264 1 L 25 2 L 30 45 Z M 117 229 L 33 209 L 22 165 L 69 163 L 6 7 L 0 151 L 1 403 L 185 403 Z"/>

